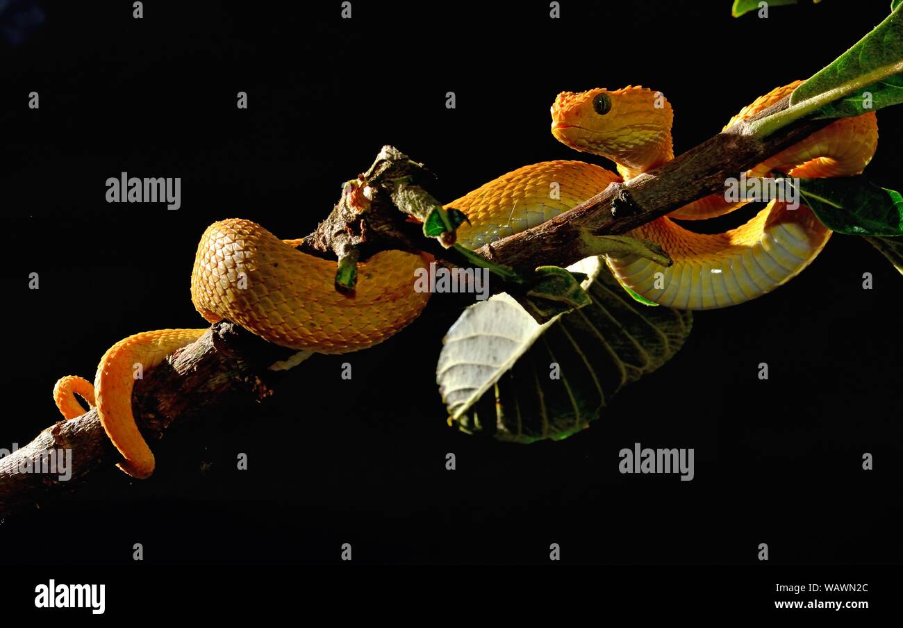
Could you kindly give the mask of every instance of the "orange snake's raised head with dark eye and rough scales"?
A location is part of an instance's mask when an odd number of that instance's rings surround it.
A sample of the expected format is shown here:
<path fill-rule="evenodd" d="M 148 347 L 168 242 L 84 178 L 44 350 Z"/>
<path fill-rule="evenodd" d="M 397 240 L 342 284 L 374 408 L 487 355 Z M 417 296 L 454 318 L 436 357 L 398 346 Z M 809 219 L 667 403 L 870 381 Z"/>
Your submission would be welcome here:
<path fill-rule="evenodd" d="M 563 91 L 552 105 L 552 135 L 571 148 L 642 171 L 673 156 L 673 119 L 670 103 L 651 89 Z"/>

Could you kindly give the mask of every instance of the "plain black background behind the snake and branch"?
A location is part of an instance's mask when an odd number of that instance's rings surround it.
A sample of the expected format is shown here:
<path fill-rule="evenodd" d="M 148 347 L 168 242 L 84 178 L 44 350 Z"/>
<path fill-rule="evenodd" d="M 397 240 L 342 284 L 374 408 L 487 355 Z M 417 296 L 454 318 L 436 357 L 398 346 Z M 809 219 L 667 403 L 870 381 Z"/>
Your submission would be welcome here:
<path fill-rule="evenodd" d="M 358 0 L 342 20 L 331 1 L 145 2 L 135 20 L 130 2 L 38 5 L 45 23 L 0 43 L 4 447 L 56 421 L 53 382 L 92 379 L 114 342 L 203 326 L 189 277 L 213 220 L 300 237 L 383 144 L 438 173 L 444 201 L 520 165 L 595 159 L 548 131 L 561 90 L 662 90 L 679 154 L 889 12 L 825 2 L 732 19 L 728 0 L 565 0 L 551 20 L 547 2 Z M 867 173 L 900 189 L 903 112 L 880 111 L 879 127 Z M 124 170 L 182 177 L 182 208 L 107 204 Z M 140 542 L 145 563 L 333 564 L 349 542 L 356 563 L 538 564 L 558 542 L 566 563 L 759 566 L 766 542 L 772 564 L 899 564 L 900 282 L 835 235 L 789 285 L 696 314 L 675 359 L 590 429 L 527 446 L 446 426 L 434 365 L 455 314 L 436 296 L 372 350 L 315 356 L 252 416 L 172 430 L 152 444 L 151 479 L 109 468 L 6 520 L 0 557 L 131 564 Z M 635 442 L 694 447 L 694 481 L 621 475 Z"/>

